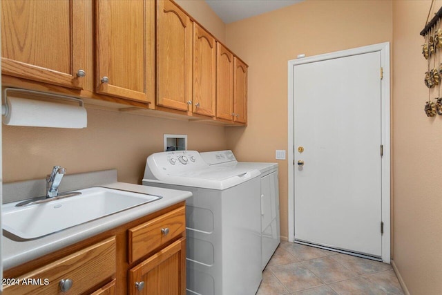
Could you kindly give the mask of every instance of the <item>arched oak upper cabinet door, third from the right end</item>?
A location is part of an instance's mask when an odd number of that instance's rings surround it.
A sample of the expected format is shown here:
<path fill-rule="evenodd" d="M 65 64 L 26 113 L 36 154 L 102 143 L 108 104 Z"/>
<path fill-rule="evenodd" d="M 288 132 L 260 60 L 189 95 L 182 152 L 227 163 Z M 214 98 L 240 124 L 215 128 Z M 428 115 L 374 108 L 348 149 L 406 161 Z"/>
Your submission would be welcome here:
<path fill-rule="evenodd" d="M 215 116 L 215 38 L 193 23 L 193 113 Z"/>

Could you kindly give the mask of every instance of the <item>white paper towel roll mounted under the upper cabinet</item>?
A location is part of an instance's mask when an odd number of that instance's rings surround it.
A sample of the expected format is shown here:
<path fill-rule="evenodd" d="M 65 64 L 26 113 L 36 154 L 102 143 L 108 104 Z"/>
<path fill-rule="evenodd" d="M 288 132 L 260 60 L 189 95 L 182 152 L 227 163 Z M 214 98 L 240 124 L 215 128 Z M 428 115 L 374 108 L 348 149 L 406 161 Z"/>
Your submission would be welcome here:
<path fill-rule="evenodd" d="M 83 106 L 8 96 L 3 124 L 80 129 L 86 128 L 88 117 Z"/>

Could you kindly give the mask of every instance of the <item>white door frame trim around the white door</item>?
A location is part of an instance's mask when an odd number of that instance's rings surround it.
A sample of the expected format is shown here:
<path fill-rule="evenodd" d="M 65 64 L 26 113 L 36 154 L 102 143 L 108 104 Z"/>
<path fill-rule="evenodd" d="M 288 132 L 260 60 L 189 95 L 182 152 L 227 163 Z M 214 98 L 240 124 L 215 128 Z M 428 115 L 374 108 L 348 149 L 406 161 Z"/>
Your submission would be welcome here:
<path fill-rule="evenodd" d="M 309 64 L 315 61 L 327 59 L 336 59 L 352 55 L 361 55 L 365 53 L 381 52 L 381 67 L 383 68 L 383 78 L 381 79 L 381 141 L 383 144 L 383 156 L 381 158 L 382 188 L 381 188 L 381 216 L 384 225 L 384 232 L 381 238 L 382 242 L 382 260 L 384 263 L 390 263 L 391 251 L 391 219 L 390 219 L 390 42 L 374 44 L 349 50 L 336 51 L 323 55 L 312 57 L 302 57 L 288 61 L 288 196 L 289 196 L 289 242 L 295 239 L 295 216 L 294 216 L 294 106 L 296 97 L 294 97 L 294 67 L 300 64 Z M 380 75 L 381 75 L 381 69 Z M 291 164 L 293 163 L 293 164 Z M 380 229 L 381 230 L 381 229 Z"/>

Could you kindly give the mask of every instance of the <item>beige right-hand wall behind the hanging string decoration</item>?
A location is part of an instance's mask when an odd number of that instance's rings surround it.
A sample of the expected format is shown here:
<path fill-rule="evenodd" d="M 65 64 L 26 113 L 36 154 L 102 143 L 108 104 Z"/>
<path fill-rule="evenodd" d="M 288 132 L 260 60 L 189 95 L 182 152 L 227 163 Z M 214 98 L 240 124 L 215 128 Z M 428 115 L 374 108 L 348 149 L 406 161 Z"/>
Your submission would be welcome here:
<path fill-rule="evenodd" d="M 427 61 L 419 35 L 430 4 L 393 1 L 394 262 L 410 294 L 436 295 L 442 294 L 442 117 L 423 111 Z M 441 6 L 435 1 L 430 18 Z"/>

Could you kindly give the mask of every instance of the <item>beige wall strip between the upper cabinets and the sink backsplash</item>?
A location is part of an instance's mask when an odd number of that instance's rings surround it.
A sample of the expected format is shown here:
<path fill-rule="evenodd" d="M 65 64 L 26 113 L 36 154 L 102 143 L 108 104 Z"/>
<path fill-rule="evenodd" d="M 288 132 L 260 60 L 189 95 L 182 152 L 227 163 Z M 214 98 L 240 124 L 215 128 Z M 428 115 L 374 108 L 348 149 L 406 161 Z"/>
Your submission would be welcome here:
<path fill-rule="evenodd" d="M 163 134 L 187 134 L 188 149 L 225 149 L 224 127 L 88 109 L 86 129 L 3 126 L 3 182 L 118 169 L 121 182 L 141 183 L 146 158 L 163 150 Z"/>

